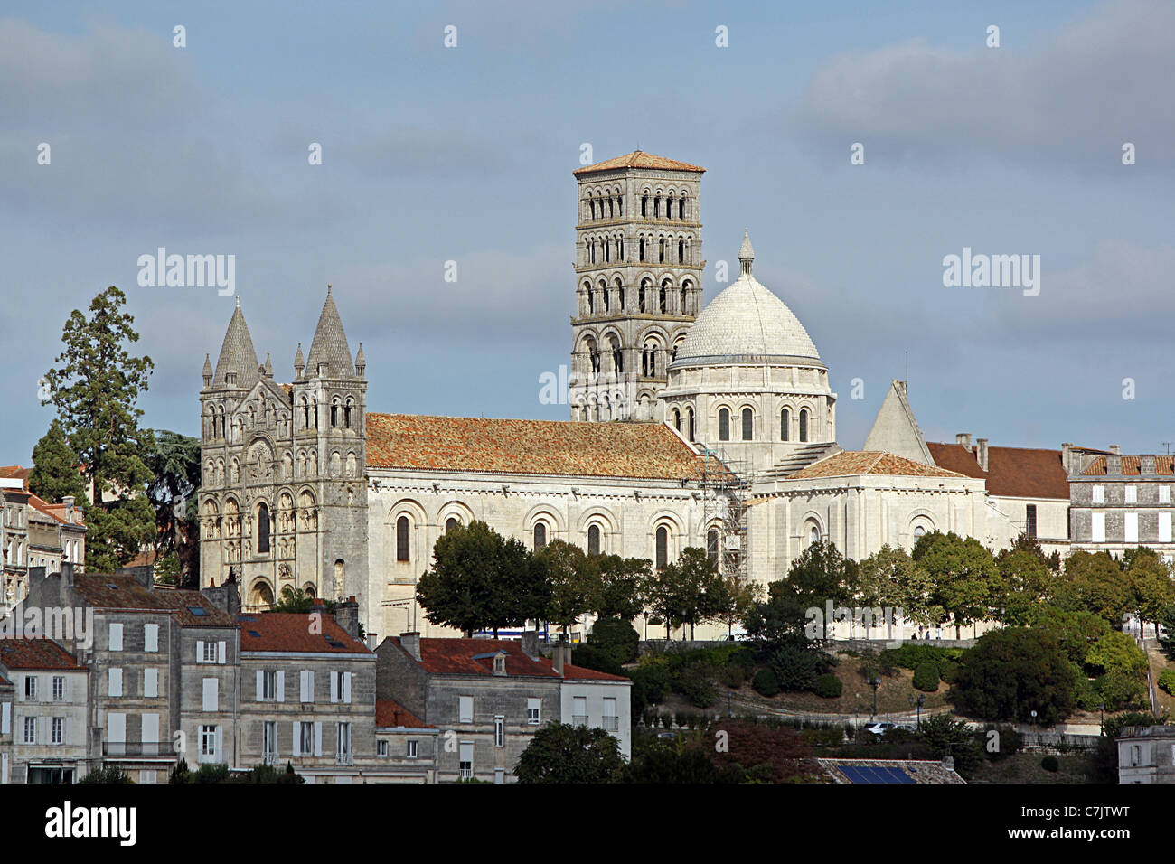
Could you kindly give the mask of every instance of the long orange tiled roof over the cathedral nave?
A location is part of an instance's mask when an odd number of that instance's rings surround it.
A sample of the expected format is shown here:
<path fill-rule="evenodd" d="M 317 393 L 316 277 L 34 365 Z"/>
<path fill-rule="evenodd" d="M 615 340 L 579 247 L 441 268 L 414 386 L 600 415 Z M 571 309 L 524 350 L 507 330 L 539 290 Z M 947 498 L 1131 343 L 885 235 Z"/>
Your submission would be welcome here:
<path fill-rule="evenodd" d="M 367 460 L 375 468 L 654 480 L 698 480 L 704 467 L 663 423 L 416 414 L 368 414 Z"/>

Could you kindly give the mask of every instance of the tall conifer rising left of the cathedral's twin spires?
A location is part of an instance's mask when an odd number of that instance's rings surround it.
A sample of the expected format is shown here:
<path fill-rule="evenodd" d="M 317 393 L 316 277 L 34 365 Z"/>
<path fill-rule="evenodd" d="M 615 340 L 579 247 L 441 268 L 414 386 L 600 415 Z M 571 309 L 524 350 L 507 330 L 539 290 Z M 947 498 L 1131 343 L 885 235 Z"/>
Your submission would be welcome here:
<path fill-rule="evenodd" d="M 150 433 L 139 429 L 136 404 L 154 364 L 135 357 L 134 317 L 122 312 L 126 295 L 114 286 L 94 297 L 87 319 L 74 309 L 61 334 L 65 350 L 46 373 L 49 401 L 93 489 L 86 508 L 86 567 L 113 570 L 133 558 L 154 535 L 150 478 L 142 454 Z"/>

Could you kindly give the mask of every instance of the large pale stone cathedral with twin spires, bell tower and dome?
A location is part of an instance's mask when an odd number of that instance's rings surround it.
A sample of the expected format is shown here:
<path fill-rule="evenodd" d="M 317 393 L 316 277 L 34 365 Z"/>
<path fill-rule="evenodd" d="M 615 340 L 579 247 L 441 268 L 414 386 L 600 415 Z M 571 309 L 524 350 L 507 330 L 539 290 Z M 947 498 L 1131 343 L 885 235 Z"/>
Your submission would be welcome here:
<path fill-rule="evenodd" d="M 1068 451 L 928 443 L 900 381 L 865 449 L 840 448 L 828 368 L 756 279 L 748 234 L 701 308 L 703 173 L 640 150 L 573 173 L 570 421 L 369 413 L 329 286 L 277 383 L 239 302 L 200 391 L 201 587 L 234 578 L 257 610 L 287 587 L 354 596 L 368 632 L 441 636 L 416 581 L 471 520 L 656 567 L 699 547 L 761 584 L 817 540 L 862 558 L 931 530 L 998 549 L 1030 525 L 1067 548 Z"/>

